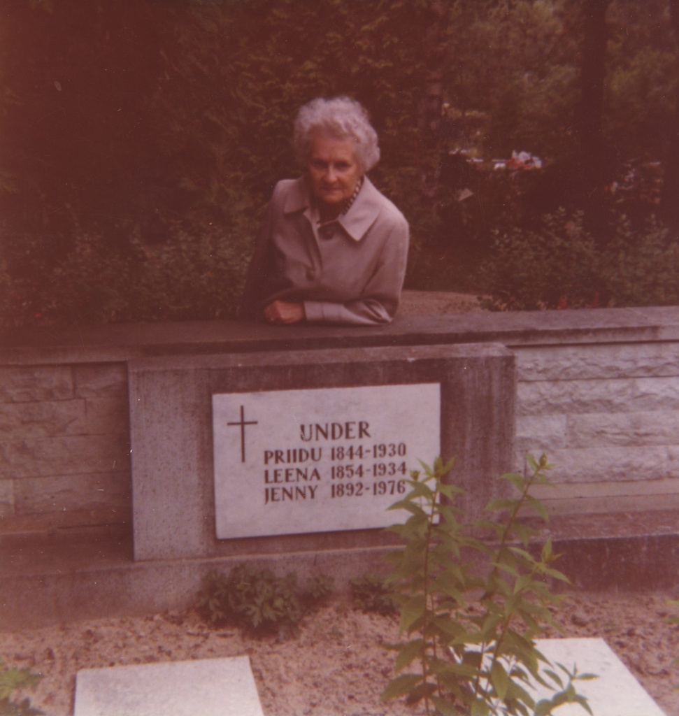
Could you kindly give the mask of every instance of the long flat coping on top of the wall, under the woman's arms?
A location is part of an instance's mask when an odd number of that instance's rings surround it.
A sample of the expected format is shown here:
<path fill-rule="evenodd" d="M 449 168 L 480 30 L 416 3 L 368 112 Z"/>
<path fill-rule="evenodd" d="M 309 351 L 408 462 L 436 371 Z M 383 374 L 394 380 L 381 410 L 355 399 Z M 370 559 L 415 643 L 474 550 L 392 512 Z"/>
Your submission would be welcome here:
<path fill-rule="evenodd" d="M 517 345 L 671 341 L 679 307 L 396 316 L 388 326 L 269 326 L 238 321 L 0 331 L 0 364 L 125 361 L 183 354 L 493 342 Z"/>

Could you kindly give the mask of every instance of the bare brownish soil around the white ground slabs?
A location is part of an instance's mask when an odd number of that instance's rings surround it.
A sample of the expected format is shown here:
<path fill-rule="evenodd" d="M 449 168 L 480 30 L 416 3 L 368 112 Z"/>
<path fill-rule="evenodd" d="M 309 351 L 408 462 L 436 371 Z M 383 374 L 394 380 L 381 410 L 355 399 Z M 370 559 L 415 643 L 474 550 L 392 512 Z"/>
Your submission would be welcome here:
<path fill-rule="evenodd" d="M 679 627 L 666 621 L 678 612 L 667 604 L 677 596 L 577 592 L 557 620 L 563 636 L 604 638 L 667 716 L 679 716 Z M 363 614 L 337 598 L 281 644 L 213 629 L 188 610 L 0 634 L 0 654 L 6 665 L 44 674 L 29 696 L 49 716 L 72 714 L 80 669 L 242 654 L 266 716 L 415 716 L 421 710 L 379 701 L 394 664 L 382 644 L 397 639 L 397 627 L 395 617 Z"/>

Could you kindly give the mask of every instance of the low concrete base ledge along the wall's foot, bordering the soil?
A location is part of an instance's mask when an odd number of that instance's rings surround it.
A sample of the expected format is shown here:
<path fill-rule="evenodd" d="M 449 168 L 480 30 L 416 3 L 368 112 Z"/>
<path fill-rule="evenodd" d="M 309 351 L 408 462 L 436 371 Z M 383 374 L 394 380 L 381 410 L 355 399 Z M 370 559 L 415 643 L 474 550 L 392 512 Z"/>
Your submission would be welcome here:
<path fill-rule="evenodd" d="M 663 517 L 611 514 L 596 523 L 553 521 L 549 534 L 562 555 L 557 569 L 574 589 L 671 589 L 679 572 L 679 511 Z M 655 528 L 654 528 L 655 526 Z M 545 533 L 546 536 L 546 533 Z M 367 571 L 386 574 L 393 546 L 325 553 L 263 553 L 184 560 L 133 561 L 132 538 L 116 531 L 0 537 L 0 632 L 100 616 L 154 614 L 192 606 L 208 571 L 227 573 L 247 561 L 299 581 L 327 574 L 338 591 Z M 557 586 L 563 591 L 563 586 Z M 17 599 L 17 595 L 21 598 Z"/>

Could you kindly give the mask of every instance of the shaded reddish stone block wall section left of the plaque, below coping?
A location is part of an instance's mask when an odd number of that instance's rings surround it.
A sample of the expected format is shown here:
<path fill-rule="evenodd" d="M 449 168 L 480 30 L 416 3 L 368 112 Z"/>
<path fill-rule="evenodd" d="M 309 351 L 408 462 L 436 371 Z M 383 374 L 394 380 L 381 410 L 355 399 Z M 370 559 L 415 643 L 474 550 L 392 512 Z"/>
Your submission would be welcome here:
<path fill-rule="evenodd" d="M 0 531 L 130 520 L 127 368 L 0 367 Z"/>

